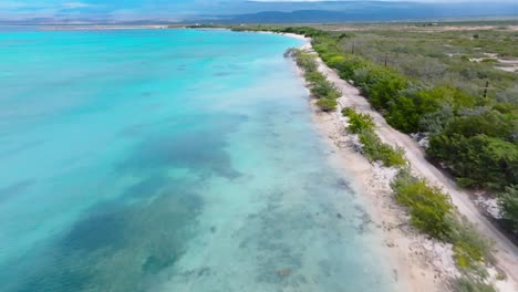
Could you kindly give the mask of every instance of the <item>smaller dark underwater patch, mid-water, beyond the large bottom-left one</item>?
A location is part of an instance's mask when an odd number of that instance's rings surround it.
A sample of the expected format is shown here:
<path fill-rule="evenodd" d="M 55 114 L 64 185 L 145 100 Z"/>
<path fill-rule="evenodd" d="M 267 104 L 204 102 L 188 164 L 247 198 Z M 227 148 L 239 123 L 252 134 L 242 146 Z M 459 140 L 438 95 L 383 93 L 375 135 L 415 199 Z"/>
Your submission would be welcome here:
<path fill-rule="evenodd" d="M 162 128 L 159 133 L 155 133 L 153 124 L 128 127 L 121 134 L 131 136 L 136 133 L 142 143 L 115 166 L 116 171 L 133 174 L 186 168 L 201 176 L 217 175 L 235 179 L 241 174 L 232 168 L 226 149 L 227 139 L 246 119 L 241 115 L 224 118 L 189 115 L 158 122 Z"/>

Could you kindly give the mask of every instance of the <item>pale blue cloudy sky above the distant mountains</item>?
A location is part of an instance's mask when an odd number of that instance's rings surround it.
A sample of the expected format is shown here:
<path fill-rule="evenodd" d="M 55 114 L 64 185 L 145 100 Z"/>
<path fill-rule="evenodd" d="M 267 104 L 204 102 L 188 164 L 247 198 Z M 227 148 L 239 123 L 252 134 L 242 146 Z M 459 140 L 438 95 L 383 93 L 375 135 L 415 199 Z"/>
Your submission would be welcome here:
<path fill-rule="evenodd" d="M 351 1 L 351 0 L 349 0 Z M 102 18 L 115 20 L 163 19 L 182 20 L 194 15 L 214 15 L 290 11 L 297 9 L 339 9 L 344 0 L 0 0 L 0 20 L 31 18 Z M 397 0 L 382 0 L 397 1 Z M 404 0 L 412 2 L 453 1 L 491 2 L 491 0 Z M 493 0 L 494 1 L 494 0 Z M 518 0 L 498 0 L 514 2 Z"/>

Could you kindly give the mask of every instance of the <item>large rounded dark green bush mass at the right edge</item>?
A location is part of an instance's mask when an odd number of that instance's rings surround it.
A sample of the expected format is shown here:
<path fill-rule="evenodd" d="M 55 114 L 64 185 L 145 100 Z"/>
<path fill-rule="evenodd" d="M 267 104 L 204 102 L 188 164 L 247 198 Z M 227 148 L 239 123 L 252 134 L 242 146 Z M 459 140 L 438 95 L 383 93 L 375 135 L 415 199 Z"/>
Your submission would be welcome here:
<path fill-rule="evenodd" d="M 517 133 L 512 113 L 464 108 L 432 136 L 427 154 L 466 187 L 503 190 L 518 184 Z"/>

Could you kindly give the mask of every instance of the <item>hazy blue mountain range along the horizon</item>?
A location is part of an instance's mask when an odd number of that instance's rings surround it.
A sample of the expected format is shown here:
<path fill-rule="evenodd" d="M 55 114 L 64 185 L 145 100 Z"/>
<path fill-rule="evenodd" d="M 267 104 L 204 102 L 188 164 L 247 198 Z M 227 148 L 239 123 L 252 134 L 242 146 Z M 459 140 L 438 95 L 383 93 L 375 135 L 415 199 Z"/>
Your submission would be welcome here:
<path fill-rule="evenodd" d="M 240 2 L 240 9 L 229 10 L 227 14 L 199 14 L 184 18 L 182 21 L 178 21 L 178 17 L 174 18 L 178 11 L 172 11 L 170 19 L 143 17 L 143 19 L 121 21 L 110 14 L 82 14 L 79 18 L 61 14 L 38 19 L 0 19 L 0 24 L 329 23 L 518 17 L 518 0 L 463 1 L 465 2 L 245 1 Z"/>

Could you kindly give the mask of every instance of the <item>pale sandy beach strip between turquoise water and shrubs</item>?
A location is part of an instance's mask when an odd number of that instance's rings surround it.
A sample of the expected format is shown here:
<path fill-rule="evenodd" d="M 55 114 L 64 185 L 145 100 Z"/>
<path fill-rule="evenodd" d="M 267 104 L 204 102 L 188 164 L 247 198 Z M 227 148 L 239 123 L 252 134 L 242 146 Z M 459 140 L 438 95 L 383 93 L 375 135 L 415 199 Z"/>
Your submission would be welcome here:
<path fill-rule="evenodd" d="M 305 44 L 300 49 L 312 50 L 307 38 L 297 34 L 286 36 L 302 38 Z M 318 61 L 322 71 L 323 62 L 320 58 Z M 299 74 L 303 79 L 301 71 Z M 388 258 L 394 280 L 407 291 L 445 291 L 446 277 L 457 272 L 455 263 L 448 259 L 443 263 L 441 252 L 445 247 L 436 246 L 410 228 L 405 210 L 395 202 L 390 187 L 396 170 L 377 163 L 371 164 L 354 149 L 354 137 L 345 131 L 346 122 L 342 117 L 340 103 L 336 112 L 329 114 L 321 112 L 314 100 L 310 100 L 310 103 L 314 125 L 331 148 L 330 160 L 352 178 L 353 189 L 362 197 L 376 227 L 374 232 L 383 242 L 381 251 Z"/>

